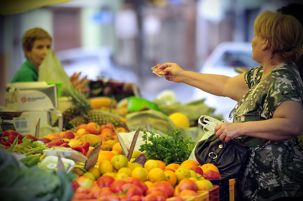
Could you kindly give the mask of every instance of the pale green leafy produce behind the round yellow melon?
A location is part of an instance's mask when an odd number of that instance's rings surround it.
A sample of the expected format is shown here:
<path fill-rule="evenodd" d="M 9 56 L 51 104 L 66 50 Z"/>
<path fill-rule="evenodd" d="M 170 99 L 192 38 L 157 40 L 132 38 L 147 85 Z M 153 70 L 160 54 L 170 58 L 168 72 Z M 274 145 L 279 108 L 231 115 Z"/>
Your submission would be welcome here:
<path fill-rule="evenodd" d="M 201 114 L 205 114 L 208 116 L 214 116 L 214 108 L 208 107 L 204 103 L 205 99 L 189 102 L 187 104 L 181 104 L 180 102 L 174 102 L 170 105 L 163 104 L 163 101 L 159 99 L 155 99 L 154 102 L 158 105 L 158 108 L 161 109 L 166 114 L 171 114 L 173 112 L 181 112 L 188 116 L 190 121 L 196 121 Z M 222 119 L 223 116 L 216 116 L 218 119 Z"/>

